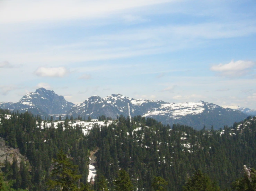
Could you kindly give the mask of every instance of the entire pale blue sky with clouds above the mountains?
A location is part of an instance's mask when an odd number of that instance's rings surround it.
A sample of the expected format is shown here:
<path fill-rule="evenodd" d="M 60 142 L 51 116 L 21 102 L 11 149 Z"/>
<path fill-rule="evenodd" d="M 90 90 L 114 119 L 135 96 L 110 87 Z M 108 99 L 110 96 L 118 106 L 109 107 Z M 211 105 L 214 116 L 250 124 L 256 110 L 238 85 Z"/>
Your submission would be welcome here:
<path fill-rule="evenodd" d="M 0 0 L 0 102 L 44 87 L 256 109 L 255 0 Z"/>

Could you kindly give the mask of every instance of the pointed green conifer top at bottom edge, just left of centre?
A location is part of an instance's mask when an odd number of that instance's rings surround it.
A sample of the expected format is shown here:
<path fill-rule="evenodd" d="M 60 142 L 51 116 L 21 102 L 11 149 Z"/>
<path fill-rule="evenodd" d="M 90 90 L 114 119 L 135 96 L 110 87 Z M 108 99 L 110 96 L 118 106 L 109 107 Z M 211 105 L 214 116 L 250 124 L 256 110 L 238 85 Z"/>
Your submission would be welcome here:
<path fill-rule="evenodd" d="M 129 174 L 121 169 L 119 171 L 118 177 L 114 180 L 115 189 L 117 191 L 132 191 L 133 185 L 130 180 Z"/>

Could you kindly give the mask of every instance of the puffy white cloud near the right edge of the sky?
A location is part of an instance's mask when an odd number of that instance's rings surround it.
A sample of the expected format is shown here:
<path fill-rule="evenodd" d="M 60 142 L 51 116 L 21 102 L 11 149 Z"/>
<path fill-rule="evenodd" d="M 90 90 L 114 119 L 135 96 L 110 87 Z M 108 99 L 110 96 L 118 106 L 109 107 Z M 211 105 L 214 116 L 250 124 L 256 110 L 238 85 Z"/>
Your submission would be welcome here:
<path fill-rule="evenodd" d="M 250 69 L 255 66 L 253 61 L 233 60 L 228 64 L 218 64 L 211 67 L 214 72 L 219 72 L 221 76 L 236 77 L 243 76 L 250 72 Z"/>

